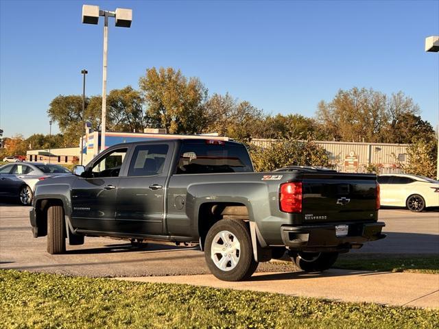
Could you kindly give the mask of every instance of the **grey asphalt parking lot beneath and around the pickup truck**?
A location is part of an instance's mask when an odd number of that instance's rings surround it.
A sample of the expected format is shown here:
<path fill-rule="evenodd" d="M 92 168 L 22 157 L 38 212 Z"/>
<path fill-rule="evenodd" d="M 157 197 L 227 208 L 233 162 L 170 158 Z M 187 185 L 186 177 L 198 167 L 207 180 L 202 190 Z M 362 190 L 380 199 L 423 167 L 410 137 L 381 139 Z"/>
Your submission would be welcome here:
<path fill-rule="evenodd" d="M 132 247 L 128 241 L 86 237 L 84 245 L 69 246 L 67 253 L 50 255 L 46 238 L 34 239 L 29 207 L 0 204 L 0 268 L 45 271 L 77 276 L 173 276 L 209 273 L 198 246 L 150 242 Z M 380 210 L 388 236 L 366 243 L 355 253 L 439 253 L 438 212 Z M 293 265 L 261 263 L 259 271 L 294 271 Z"/>

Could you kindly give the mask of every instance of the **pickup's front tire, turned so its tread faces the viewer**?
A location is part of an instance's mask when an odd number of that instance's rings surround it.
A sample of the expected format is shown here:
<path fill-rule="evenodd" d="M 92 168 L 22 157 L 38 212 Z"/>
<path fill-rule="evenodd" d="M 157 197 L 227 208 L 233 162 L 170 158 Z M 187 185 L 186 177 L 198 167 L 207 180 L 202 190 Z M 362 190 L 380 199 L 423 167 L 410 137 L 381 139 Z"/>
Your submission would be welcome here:
<path fill-rule="evenodd" d="M 66 251 L 64 209 L 50 206 L 47 209 L 47 252 L 51 255 Z"/>

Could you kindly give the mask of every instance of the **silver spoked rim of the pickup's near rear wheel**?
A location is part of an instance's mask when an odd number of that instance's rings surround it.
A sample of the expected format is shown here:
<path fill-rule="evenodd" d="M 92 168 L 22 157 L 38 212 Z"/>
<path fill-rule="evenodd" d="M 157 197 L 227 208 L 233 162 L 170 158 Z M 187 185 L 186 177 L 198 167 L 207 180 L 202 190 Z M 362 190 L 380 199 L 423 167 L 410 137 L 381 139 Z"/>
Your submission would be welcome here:
<path fill-rule="evenodd" d="M 241 244 L 230 231 L 218 232 L 211 245 L 211 258 L 218 269 L 231 271 L 239 263 Z"/>

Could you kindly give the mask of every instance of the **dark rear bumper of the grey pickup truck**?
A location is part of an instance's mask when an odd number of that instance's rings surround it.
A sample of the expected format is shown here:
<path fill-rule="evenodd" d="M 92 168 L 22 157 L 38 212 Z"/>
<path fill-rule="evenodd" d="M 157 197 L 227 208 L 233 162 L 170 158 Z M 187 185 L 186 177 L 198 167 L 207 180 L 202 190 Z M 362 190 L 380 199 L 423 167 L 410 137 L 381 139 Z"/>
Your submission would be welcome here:
<path fill-rule="evenodd" d="M 359 248 L 368 241 L 385 238 L 381 231 L 383 222 L 343 223 L 348 225 L 348 235 L 336 236 L 335 226 L 340 223 L 313 226 L 282 226 L 283 243 L 292 250 L 309 252 L 342 252 Z"/>

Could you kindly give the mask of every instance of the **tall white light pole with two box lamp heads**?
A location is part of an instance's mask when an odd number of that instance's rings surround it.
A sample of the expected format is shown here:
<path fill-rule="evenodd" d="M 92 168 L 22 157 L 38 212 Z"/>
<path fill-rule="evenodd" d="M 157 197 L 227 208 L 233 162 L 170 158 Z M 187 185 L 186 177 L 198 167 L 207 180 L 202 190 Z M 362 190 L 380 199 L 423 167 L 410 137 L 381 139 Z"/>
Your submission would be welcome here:
<path fill-rule="evenodd" d="M 82 5 L 82 23 L 97 24 L 99 16 L 104 16 L 104 60 L 102 61 L 102 120 L 101 151 L 105 149 L 106 102 L 107 102 L 107 50 L 108 50 L 108 17 L 115 17 L 116 26 L 130 27 L 132 10 L 116 8 L 115 12 L 99 10 L 99 5 Z"/>

